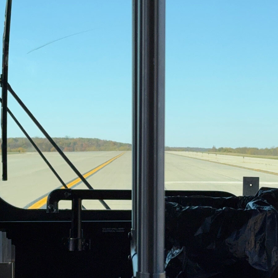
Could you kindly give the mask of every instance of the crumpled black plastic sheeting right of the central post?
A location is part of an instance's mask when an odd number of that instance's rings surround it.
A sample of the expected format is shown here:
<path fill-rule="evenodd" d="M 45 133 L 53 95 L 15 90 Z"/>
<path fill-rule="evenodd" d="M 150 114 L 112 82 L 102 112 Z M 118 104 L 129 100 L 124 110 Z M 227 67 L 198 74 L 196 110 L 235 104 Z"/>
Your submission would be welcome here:
<path fill-rule="evenodd" d="M 255 196 L 166 197 L 169 278 L 208 278 L 236 266 L 271 277 L 278 265 L 278 189 Z"/>

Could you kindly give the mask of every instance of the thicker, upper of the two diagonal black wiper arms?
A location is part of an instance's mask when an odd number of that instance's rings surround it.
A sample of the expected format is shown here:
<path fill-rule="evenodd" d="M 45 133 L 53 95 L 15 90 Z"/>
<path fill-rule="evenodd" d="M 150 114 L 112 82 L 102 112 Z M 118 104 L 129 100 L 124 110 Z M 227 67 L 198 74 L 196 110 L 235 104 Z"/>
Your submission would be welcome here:
<path fill-rule="evenodd" d="M 36 126 L 40 129 L 40 131 L 44 134 L 44 136 L 48 139 L 48 141 L 53 145 L 53 147 L 57 150 L 57 152 L 61 155 L 61 157 L 65 160 L 65 162 L 70 166 L 70 168 L 74 171 L 74 173 L 78 176 L 79 179 L 82 180 L 83 183 L 89 188 L 94 189 L 90 183 L 82 176 L 82 174 L 77 170 L 77 168 L 72 164 L 69 158 L 62 152 L 62 150 L 58 147 L 58 145 L 54 142 L 51 136 L 45 131 L 45 129 L 41 126 L 38 120 L 33 116 L 30 110 L 25 106 L 25 104 L 21 101 L 21 99 L 16 95 L 15 91 L 11 88 L 10 84 L 8 83 L 8 91 L 11 95 L 15 98 L 15 100 L 19 103 L 19 105 L 23 108 L 23 110 L 27 113 L 27 115 L 32 119 L 32 121 L 36 124 Z M 103 201 L 99 200 L 100 203 L 106 208 L 110 209 L 109 206 Z"/>

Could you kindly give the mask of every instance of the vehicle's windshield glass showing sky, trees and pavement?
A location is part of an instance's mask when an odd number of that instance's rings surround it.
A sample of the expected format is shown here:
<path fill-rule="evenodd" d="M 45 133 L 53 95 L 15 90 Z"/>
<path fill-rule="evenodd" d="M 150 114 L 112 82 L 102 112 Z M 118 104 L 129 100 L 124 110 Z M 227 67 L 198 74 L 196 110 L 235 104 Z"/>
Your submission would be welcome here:
<path fill-rule="evenodd" d="M 239 196 L 243 176 L 278 186 L 277 8 L 166 2 L 167 190 Z M 131 189 L 131 10 L 124 0 L 12 4 L 9 84 L 94 189 Z M 8 107 L 65 185 L 88 188 L 11 95 Z M 64 186 L 10 116 L 7 147 L 1 198 L 45 208 L 49 192 Z"/>

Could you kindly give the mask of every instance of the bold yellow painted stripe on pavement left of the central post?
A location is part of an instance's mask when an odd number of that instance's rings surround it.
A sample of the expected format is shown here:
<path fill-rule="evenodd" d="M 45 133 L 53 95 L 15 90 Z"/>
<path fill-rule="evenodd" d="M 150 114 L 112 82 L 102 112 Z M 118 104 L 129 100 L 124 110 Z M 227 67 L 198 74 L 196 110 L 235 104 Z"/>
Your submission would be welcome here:
<path fill-rule="evenodd" d="M 103 167 L 107 166 L 108 164 L 110 164 L 110 163 L 113 162 L 115 159 L 119 158 L 120 156 L 122 156 L 122 155 L 125 154 L 125 153 L 126 153 L 126 152 L 123 152 L 123 153 L 121 153 L 121 154 L 118 154 L 118 155 L 116 155 L 115 157 L 113 157 L 113 158 L 107 160 L 106 162 L 103 162 L 102 164 L 100 164 L 99 166 L 95 167 L 94 169 L 92 169 L 92 170 L 86 172 L 86 173 L 83 175 L 83 177 L 84 177 L 85 179 L 91 177 L 91 176 L 94 175 L 96 172 L 98 172 L 99 170 L 103 169 Z M 80 184 L 80 183 L 82 183 L 82 180 L 81 180 L 80 178 L 75 178 L 75 179 L 71 180 L 70 182 L 68 182 L 68 183 L 66 184 L 66 186 L 67 186 L 68 188 L 73 188 L 73 187 L 77 186 L 77 185 Z M 57 188 L 65 189 L 63 186 L 62 186 L 62 187 L 57 187 Z M 55 189 L 57 189 L 57 188 L 55 188 Z M 53 189 L 53 190 L 54 190 L 54 189 Z M 50 191 L 50 192 L 51 192 L 51 191 Z M 33 201 L 32 203 L 28 204 L 28 205 L 26 206 L 27 209 L 38 209 L 38 208 L 43 207 L 43 206 L 46 204 L 46 202 L 47 202 L 47 197 L 48 197 L 48 194 L 49 194 L 50 192 L 48 192 L 47 194 L 41 196 L 41 197 L 39 198 L 39 200 L 36 199 L 36 200 Z M 25 208 L 26 208 L 26 207 L 25 207 Z"/>

